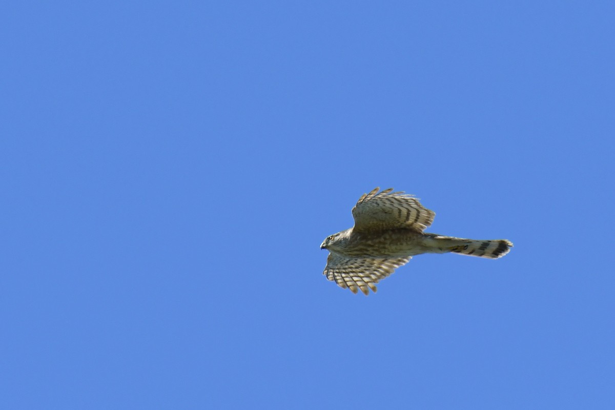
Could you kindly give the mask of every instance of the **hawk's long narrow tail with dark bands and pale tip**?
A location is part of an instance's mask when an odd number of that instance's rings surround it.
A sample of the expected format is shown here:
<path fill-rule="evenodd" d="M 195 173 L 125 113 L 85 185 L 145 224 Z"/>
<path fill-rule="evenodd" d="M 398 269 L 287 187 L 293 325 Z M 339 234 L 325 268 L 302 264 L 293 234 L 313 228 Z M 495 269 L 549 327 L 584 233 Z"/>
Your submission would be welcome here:
<path fill-rule="evenodd" d="M 426 234 L 426 243 L 437 253 L 454 252 L 481 258 L 497 259 L 510 252 L 512 242 L 506 239 L 475 240 Z"/>

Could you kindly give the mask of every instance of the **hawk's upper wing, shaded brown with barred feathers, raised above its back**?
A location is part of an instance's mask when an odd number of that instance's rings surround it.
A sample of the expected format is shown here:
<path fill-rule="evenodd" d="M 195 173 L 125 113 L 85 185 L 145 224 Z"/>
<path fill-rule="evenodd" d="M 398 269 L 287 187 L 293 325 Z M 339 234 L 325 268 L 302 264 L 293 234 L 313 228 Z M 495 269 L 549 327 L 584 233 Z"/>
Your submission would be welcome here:
<path fill-rule="evenodd" d="M 352 208 L 355 231 L 406 228 L 423 232 L 434 221 L 435 212 L 423 207 L 418 199 L 393 188 L 363 194 Z"/>

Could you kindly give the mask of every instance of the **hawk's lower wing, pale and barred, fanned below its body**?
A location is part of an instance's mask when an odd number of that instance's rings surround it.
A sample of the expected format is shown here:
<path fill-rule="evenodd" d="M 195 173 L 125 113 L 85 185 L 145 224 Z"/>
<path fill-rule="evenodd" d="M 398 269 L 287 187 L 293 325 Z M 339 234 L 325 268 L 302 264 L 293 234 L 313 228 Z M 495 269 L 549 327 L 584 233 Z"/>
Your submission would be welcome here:
<path fill-rule="evenodd" d="M 352 293 L 359 289 L 367 296 L 370 291 L 376 291 L 376 283 L 391 275 L 395 268 L 410 261 L 407 258 L 348 258 L 336 252 L 331 252 L 327 258 L 327 266 L 323 275 L 328 280 L 335 281 L 341 288 L 350 288 Z"/>

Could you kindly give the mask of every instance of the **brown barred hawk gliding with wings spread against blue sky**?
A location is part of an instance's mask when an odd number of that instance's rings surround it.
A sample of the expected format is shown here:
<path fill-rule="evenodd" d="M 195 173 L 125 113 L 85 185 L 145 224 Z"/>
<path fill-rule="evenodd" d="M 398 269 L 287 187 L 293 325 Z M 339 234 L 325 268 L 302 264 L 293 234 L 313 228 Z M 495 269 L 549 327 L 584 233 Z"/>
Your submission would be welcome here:
<path fill-rule="evenodd" d="M 434 221 L 434 211 L 413 195 L 378 192 L 363 194 L 352 208 L 354 227 L 325 239 L 320 249 L 330 252 L 323 275 L 352 293 L 369 289 L 421 253 L 455 252 L 497 259 L 509 253 L 506 239 L 474 240 L 423 232 Z"/>

